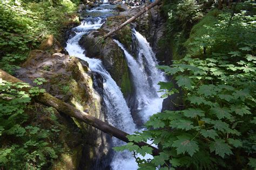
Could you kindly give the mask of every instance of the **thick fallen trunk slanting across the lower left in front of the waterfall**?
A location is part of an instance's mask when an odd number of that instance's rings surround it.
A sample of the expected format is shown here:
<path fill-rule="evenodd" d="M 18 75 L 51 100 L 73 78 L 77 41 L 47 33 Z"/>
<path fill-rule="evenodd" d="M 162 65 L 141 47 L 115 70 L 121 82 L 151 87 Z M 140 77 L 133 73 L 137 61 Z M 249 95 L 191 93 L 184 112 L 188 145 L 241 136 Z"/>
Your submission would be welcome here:
<path fill-rule="evenodd" d="M 5 71 L 0 69 L 0 81 L 1 79 L 5 81 L 9 81 L 11 83 L 17 83 L 17 82 L 23 82 L 22 80 L 17 79 L 14 76 L 11 76 L 10 74 L 6 73 Z M 29 88 L 23 89 L 24 91 L 28 91 Z M 67 115 L 70 115 L 71 117 L 77 118 L 80 121 L 83 121 L 84 123 L 91 125 L 95 128 L 97 128 L 100 131 L 103 131 L 107 134 L 112 135 L 113 137 L 116 137 L 120 140 L 123 140 L 125 142 L 130 142 L 129 139 L 126 137 L 129 135 L 128 133 L 119 130 L 116 127 L 113 127 L 107 123 L 105 123 L 102 120 L 99 120 L 93 116 L 91 116 L 88 113 L 79 111 L 76 107 L 71 106 L 68 103 L 65 103 L 64 101 L 57 99 L 56 97 L 51 96 L 49 93 L 42 93 L 39 96 L 35 98 L 39 103 L 42 103 L 46 106 L 55 107 L 57 111 L 61 113 L 65 113 Z M 145 142 L 139 142 L 135 143 L 138 146 L 149 146 L 151 147 L 153 155 L 158 155 L 159 150 Z"/>

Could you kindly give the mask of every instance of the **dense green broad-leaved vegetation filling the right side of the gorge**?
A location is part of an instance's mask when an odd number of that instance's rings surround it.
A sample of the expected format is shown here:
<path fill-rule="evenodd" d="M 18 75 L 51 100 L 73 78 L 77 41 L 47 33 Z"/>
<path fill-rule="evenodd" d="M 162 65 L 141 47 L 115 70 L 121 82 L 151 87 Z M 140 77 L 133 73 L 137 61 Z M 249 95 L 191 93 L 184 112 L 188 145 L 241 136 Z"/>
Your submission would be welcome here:
<path fill-rule="evenodd" d="M 255 169 L 254 4 L 221 10 L 213 4 L 210 11 L 191 1 L 171 5 L 164 6 L 169 38 L 183 51 L 171 66 L 159 66 L 172 79 L 159 85 L 163 97 L 179 93 L 183 104 L 177 104 L 178 111 L 154 114 L 146 131 L 130 135 L 131 142 L 116 150 L 144 156 L 151 148 L 133 142 L 156 144 L 160 154 L 152 160 L 137 157 L 139 169 Z"/>

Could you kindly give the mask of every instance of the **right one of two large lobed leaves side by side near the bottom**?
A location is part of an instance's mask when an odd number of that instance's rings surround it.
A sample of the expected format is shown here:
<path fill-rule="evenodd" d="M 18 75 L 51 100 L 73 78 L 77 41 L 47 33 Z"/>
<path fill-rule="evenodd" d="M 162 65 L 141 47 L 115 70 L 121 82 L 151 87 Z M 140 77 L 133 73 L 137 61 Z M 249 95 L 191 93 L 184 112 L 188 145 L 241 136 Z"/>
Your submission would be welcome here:
<path fill-rule="evenodd" d="M 225 154 L 230 155 L 233 154 L 231 151 L 231 146 L 225 143 L 223 139 L 216 139 L 214 142 L 210 144 L 210 151 L 214 152 L 216 155 L 220 155 L 220 157 L 224 158 Z"/>

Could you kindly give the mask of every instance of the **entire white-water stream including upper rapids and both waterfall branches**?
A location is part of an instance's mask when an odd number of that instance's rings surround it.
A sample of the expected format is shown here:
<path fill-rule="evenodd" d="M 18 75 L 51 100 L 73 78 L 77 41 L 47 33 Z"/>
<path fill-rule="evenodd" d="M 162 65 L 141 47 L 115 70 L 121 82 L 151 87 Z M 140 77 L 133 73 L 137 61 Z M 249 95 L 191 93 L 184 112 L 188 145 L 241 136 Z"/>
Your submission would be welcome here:
<path fill-rule="evenodd" d="M 89 64 L 92 72 L 99 74 L 103 79 L 103 90 L 100 92 L 104 106 L 106 107 L 106 121 L 114 127 L 122 131 L 132 134 L 135 131 L 142 130 L 142 124 L 149 117 L 161 111 L 163 99 L 157 91 L 159 81 L 165 81 L 164 73 L 156 68 L 157 60 L 147 42 L 135 29 L 132 30 L 132 38 L 134 46 L 136 46 L 137 56 L 132 56 L 118 40 L 114 40 L 118 46 L 124 51 L 127 64 L 130 69 L 134 93 L 129 101 L 126 101 L 120 87 L 112 79 L 111 75 L 105 69 L 102 61 L 96 58 L 89 58 L 84 55 L 86 50 L 79 44 L 80 38 L 88 34 L 92 30 L 99 29 L 106 21 L 107 16 L 111 16 L 112 9 L 110 5 L 102 4 L 92 10 L 87 10 L 88 13 L 97 13 L 97 15 L 86 17 L 81 24 L 73 28 L 74 32 L 70 35 L 70 39 L 66 42 L 66 51 L 70 56 L 78 57 L 85 60 Z M 102 15 L 99 15 L 102 13 Z M 94 82 L 97 84 L 97 82 Z M 134 120 L 134 116 L 139 119 Z M 125 143 L 117 138 L 112 138 L 114 146 L 121 146 Z M 146 155 L 146 158 L 151 158 L 151 155 Z M 111 169 L 137 169 L 138 165 L 129 151 L 114 152 L 110 164 Z"/>

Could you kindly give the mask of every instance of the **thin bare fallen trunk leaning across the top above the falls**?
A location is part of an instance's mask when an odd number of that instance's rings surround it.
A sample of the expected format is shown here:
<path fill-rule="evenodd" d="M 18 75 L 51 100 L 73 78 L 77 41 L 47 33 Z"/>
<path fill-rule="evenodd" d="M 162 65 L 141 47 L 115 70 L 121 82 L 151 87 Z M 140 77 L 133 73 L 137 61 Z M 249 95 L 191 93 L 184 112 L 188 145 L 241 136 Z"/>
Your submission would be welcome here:
<path fill-rule="evenodd" d="M 146 11 L 150 10 L 151 8 L 153 8 L 154 6 L 156 6 L 158 3 L 160 2 L 160 0 L 156 0 L 155 2 L 151 3 L 150 5 L 147 5 L 145 8 L 143 8 L 141 11 L 139 11 L 136 15 L 134 15 L 133 17 L 131 17 L 130 19 L 128 19 L 126 22 L 124 22 L 123 24 L 117 26 L 116 28 L 114 28 L 112 31 L 110 31 L 109 33 L 107 33 L 103 38 L 106 39 L 107 37 L 111 36 L 114 32 L 122 29 L 125 25 L 131 23 L 134 19 L 138 18 L 139 16 L 143 15 L 143 13 L 145 13 Z"/>

